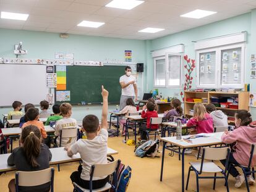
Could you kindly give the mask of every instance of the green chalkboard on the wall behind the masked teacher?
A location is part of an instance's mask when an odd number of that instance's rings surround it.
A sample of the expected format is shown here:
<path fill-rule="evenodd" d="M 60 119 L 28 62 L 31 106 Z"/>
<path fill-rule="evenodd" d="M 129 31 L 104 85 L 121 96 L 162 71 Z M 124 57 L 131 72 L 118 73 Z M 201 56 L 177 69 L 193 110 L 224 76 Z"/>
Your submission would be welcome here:
<path fill-rule="evenodd" d="M 100 103 L 101 85 L 109 91 L 109 102 L 119 103 L 121 86 L 119 78 L 124 75 L 125 66 L 105 65 L 93 66 L 67 66 L 67 91 L 70 91 L 70 103 L 81 104 Z"/>

